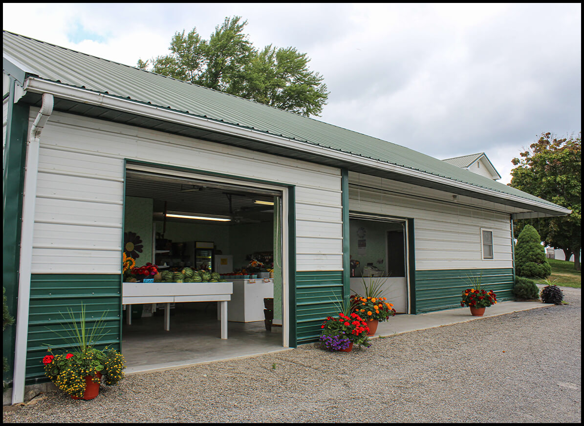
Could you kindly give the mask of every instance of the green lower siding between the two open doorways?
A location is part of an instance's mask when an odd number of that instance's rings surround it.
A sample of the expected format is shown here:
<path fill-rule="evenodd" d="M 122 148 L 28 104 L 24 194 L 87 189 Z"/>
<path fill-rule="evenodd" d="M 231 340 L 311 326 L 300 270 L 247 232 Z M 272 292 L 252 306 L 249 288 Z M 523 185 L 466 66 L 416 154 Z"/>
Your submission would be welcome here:
<path fill-rule="evenodd" d="M 338 311 L 343 299 L 343 271 L 296 273 L 296 341 L 318 340 L 322 321 Z"/>

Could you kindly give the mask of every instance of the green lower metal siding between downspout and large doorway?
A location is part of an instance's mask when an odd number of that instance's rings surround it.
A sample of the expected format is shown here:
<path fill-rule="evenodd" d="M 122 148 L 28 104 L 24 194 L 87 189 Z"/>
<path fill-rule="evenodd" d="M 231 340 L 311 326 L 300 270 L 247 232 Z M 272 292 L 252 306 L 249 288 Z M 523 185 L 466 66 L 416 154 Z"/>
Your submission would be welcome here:
<path fill-rule="evenodd" d="M 67 350 L 71 347 L 68 344 L 70 339 L 65 338 L 68 331 L 72 330 L 68 309 L 73 310 L 79 318 L 82 303 L 85 305 L 89 327 L 102 317 L 103 312 L 108 311 L 104 318 L 105 334 L 100 339 L 99 346 L 110 345 L 120 349 L 120 283 L 120 275 L 32 275 L 26 353 L 27 383 L 44 381 L 41 359 L 47 354 L 47 346 L 54 350 Z"/>

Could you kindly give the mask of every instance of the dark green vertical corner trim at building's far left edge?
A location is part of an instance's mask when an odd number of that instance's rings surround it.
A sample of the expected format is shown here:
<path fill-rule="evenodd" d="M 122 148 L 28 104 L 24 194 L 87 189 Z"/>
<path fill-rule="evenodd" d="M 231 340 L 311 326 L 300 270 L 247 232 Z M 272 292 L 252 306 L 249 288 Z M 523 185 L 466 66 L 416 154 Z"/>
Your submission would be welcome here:
<path fill-rule="evenodd" d="M 2 174 L 2 285 L 6 288 L 8 309 L 16 318 L 29 106 L 22 102 L 14 103 L 14 90 L 15 80 L 11 78 L 4 148 L 6 163 Z M 8 326 L 2 333 L 2 354 L 8 359 L 9 365 L 8 371 L 2 373 L 2 378 L 9 382 L 12 381 L 14 365 L 15 326 Z"/>

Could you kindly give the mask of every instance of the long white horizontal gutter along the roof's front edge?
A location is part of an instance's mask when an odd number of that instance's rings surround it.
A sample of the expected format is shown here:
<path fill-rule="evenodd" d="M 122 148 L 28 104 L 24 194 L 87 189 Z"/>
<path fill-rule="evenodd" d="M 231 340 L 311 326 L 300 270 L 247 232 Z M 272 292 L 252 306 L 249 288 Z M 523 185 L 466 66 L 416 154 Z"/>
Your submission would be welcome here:
<path fill-rule="evenodd" d="M 538 208 L 545 208 L 548 211 L 558 212 L 559 214 L 571 213 L 571 210 L 564 207 L 555 207 L 535 200 L 517 197 L 516 195 L 500 193 L 498 191 L 489 190 L 487 188 L 481 188 L 468 183 L 452 180 L 447 177 L 436 176 L 434 174 L 420 172 L 419 170 L 412 170 L 408 167 L 392 165 L 380 160 L 364 158 L 352 153 L 340 152 L 336 151 L 335 149 L 316 146 L 309 144 L 308 142 L 294 141 L 292 139 L 281 136 L 274 136 L 265 132 L 238 127 L 233 124 L 219 123 L 217 121 L 210 120 L 209 118 L 195 117 L 191 114 L 144 104 L 136 102 L 135 100 L 121 99 L 120 97 L 104 95 L 103 93 L 91 92 L 86 89 L 74 88 L 71 86 L 62 85 L 60 83 L 29 77 L 25 82 L 25 90 L 30 90 L 30 92 L 34 93 L 50 92 L 62 99 L 74 100 L 81 103 L 93 104 L 120 111 L 127 111 L 143 117 L 157 118 L 158 120 L 203 128 L 205 130 L 221 132 L 223 134 L 236 137 L 255 139 L 256 141 L 265 142 L 271 145 L 283 146 L 294 149 L 296 151 L 308 152 L 314 155 L 325 156 L 328 158 L 350 162 L 366 167 L 374 167 L 385 172 L 392 172 L 404 176 L 415 177 L 417 179 L 450 186 L 464 191 L 489 195 L 501 200 L 521 202 L 522 204 Z"/>

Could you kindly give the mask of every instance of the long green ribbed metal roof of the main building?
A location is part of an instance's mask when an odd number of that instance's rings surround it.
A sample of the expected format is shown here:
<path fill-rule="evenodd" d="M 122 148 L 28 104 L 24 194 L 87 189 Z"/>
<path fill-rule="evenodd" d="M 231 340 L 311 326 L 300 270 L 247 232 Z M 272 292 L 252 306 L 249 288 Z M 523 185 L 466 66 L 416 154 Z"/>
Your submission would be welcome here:
<path fill-rule="evenodd" d="M 4 57 L 29 76 L 380 160 L 478 188 L 555 204 L 413 149 L 217 90 L 4 32 Z M 501 201 L 505 204 L 505 201 Z"/>

